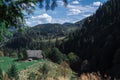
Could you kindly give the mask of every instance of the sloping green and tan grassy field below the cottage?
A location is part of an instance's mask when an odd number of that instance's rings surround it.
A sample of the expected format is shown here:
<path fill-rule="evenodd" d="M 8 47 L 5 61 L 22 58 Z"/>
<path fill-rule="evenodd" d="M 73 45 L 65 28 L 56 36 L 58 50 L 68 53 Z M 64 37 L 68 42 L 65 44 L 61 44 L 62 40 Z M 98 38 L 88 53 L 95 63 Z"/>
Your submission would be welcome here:
<path fill-rule="evenodd" d="M 48 73 L 46 80 L 70 80 L 73 72 L 70 68 L 53 63 L 48 60 L 33 60 L 31 62 L 16 62 L 17 58 L 0 57 L 0 68 L 7 72 L 13 63 L 16 64 L 19 80 L 28 80 L 29 75 L 36 75 L 34 80 L 43 77 L 43 65 L 46 64 Z"/>

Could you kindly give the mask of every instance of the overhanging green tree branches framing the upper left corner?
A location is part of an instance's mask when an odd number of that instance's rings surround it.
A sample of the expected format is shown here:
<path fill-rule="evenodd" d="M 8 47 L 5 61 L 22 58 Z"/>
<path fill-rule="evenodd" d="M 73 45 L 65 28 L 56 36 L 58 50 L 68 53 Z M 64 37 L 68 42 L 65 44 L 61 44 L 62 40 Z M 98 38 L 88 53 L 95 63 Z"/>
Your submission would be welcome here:
<path fill-rule="evenodd" d="M 45 5 L 43 3 L 45 2 Z M 67 0 L 63 0 L 67 4 Z M 33 14 L 34 5 L 44 7 L 46 10 L 54 10 L 57 6 L 56 0 L 1 0 L 0 1 L 0 43 L 11 34 L 8 28 L 15 27 L 21 31 L 25 27 L 25 14 Z M 24 12 L 23 12 L 24 11 Z M 23 25 L 21 25 L 23 24 Z M 9 38 L 8 38 L 9 39 Z"/>

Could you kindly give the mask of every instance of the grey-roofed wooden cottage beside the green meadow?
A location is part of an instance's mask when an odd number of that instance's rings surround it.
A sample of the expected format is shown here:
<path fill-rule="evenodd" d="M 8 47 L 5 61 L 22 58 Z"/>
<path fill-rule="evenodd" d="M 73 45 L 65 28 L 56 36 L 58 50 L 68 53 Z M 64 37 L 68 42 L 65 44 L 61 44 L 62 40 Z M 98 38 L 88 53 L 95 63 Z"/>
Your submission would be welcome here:
<path fill-rule="evenodd" d="M 26 52 L 27 52 L 28 58 L 32 58 L 32 59 L 43 58 L 42 50 L 27 50 Z"/>

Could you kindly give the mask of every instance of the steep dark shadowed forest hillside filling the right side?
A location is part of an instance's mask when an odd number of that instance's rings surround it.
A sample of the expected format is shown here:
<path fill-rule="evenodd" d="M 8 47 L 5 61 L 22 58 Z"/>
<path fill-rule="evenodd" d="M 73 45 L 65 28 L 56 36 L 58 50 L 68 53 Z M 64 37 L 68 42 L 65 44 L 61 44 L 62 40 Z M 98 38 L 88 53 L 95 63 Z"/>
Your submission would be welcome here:
<path fill-rule="evenodd" d="M 101 71 L 120 77 L 120 0 L 108 0 L 68 36 L 60 49 L 75 52 L 82 72 Z M 75 67 L 75 66 L 74 66 Z M 78 69 L 77 69 L 78 71 Z"/>

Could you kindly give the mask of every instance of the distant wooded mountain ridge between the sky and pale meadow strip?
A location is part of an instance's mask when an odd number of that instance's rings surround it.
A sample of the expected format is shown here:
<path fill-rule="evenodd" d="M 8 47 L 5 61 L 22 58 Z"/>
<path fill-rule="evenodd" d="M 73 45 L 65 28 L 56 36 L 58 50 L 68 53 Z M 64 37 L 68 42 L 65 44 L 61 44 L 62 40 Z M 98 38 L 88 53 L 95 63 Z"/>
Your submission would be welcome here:
<path fill-rule="evenodd" d="M 34 27 L 31 27 L 30 29 L 27 30 L 28 34 L 33 37 L 37 34 L 37 36 L 65 36 L 69 34 L 71 31 L 75 31 L 76 29 L 82 27 L 81 25 L 83 24 L 83 21 L 79 23 L 64 23 L 64 24 L 39 24 Z M 34 35 L 35 34 L 35 35 Z"/>

